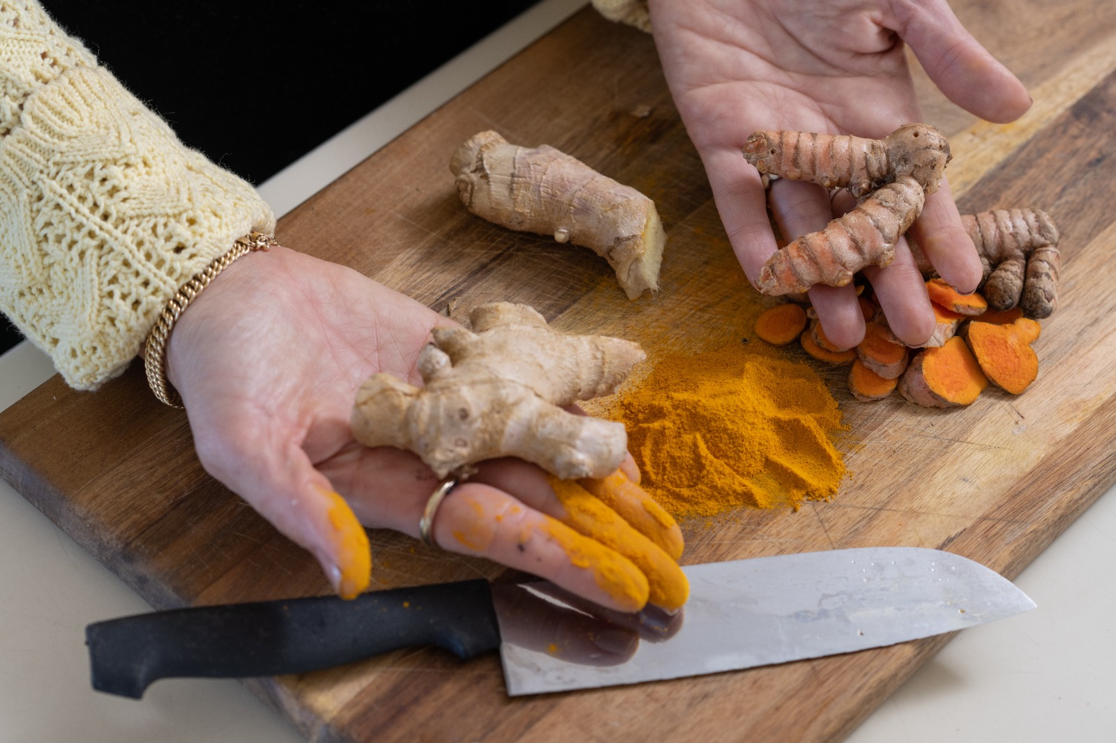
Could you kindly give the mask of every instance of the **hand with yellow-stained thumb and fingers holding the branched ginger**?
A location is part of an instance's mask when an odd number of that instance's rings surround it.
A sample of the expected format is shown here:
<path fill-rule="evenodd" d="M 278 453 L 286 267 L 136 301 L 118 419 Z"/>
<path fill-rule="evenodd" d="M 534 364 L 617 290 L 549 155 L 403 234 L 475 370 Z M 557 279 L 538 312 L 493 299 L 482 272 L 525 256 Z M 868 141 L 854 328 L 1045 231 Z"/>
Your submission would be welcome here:
<path fill-rule="evenodd" d="M 225 269 L 171 335 L 167 376 L 205 470 L 312 552 L 341 596 L 369 581 L 360 524 L 419 537 L 439 485 L 414 454 L 353 438 L 356 388 L 376 372 L 421 384 L 419 351 L 450 324 L 356 271 L 275 248 Z M 631 459 L 622 469 L 638 480 Z M 443 501 L 432 538 L 602 606 L 643 608 L 646 577 L 565 515 L 539 467 L 493 461 Z"/>

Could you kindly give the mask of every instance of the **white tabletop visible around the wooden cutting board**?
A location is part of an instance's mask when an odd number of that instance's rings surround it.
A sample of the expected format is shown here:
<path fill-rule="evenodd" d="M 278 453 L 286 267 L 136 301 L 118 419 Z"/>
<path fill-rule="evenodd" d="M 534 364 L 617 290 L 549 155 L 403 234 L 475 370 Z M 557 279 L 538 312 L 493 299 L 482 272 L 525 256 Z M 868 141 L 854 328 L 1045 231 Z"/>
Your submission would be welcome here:
<path fill-rule="evenodd" d="M 286 213 L 584 4 L 546 0 L 262 184 L 261 193 Z M 0 356 L 0 409 L 51 374 L 27 342 Z M 302 740 L 233 681 L 161 682 L 141 702 L 94 692 L 85 626 L 148 607 L 3 483 L 0 553 L 0 743 Z M 1116 740 L 1116 488 L 1016 582 L 1036 610 L 958 635 L 848 740 Z"/>

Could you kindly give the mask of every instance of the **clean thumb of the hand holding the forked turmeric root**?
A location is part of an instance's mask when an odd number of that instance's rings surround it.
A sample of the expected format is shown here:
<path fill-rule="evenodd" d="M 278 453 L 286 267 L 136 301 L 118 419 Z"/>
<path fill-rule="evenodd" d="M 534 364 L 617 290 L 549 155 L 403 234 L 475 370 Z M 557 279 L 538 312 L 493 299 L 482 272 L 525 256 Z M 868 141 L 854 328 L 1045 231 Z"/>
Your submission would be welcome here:
<path fill-rule="evenodd" d="M 1001 124 L 1030 108 L 1023 84 L 965 30 L 944 0 L 904 8 L 894 28 L 950 100 Z"/>

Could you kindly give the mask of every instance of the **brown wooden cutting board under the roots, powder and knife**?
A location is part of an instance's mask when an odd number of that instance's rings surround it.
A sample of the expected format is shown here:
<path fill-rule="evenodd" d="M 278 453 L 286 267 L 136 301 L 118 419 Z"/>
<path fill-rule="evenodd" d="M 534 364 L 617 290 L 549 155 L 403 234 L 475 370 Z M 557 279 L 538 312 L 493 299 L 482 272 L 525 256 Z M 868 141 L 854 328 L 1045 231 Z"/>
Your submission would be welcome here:
<path fill-rule="evenodd" d="M 685 524 L 684 562 L 876 544 L 934 547 L 1016 576 L 1116 481 L 1116 3 L 954 3 L 1028 84 L 1033 109 L 979 123 L 918 74 L 950 136 L 962 211 L 1038 206 L 1062 233 L 1038 382 L 951 412 L 853 402 L 840 493 L 798 512 Z M 652 196 L 662 291 L 629 302 L 588 251 L 468 214 L 448 161 L 478 131 L 549 143 Z M 747 136 L 741 133 L 741 139 Z M 559 328 L 701 350 L 750 335 L 744 282 L 648 37 L 583 11 L 299 206 L 280 240 L 440 311 L 528 302 Z M 327 592 L 314 560 L 209 479 L 185 417 L 134 368 L 96 394 L 54 378 L 0 415 L 0 470 L 155 607 Z M 374 532 L 374 587 L 494 578 L 489 562 Z M 249 686 L 320 741 L 833 741 L 947 638 L 633 687 L 510 699 L 499 662 L 397 653 Z"/>

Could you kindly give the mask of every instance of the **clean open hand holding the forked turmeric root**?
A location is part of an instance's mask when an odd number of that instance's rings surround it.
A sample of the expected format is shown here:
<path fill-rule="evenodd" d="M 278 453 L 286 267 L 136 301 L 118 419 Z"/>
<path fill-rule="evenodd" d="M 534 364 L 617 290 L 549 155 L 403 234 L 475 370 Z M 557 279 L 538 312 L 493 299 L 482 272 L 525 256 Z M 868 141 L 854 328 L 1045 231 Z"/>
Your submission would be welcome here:
<path fill-rule="evenodd" d="M 1030 105 L 1014 76 L 961 26 L 944 0 L 650 0 L 667 83 L 713 189 L 729 240 L 749 279 L 777 245 L 759 174 L 741 156 L 759 129 L 882 137 L 922 122 L 905 44 L 954 103 L 989 120 Z M 904 44 L 905 42 L 905 44 Z M 785 237 L 825 226 L 852 206 L 808 183 L 776 181 L 771 212 Z M 912 228 L 942 277 L 975 289 L 981 267 L 949 184 L 926 197 Z M 934 329 L 925 288 L 904 241 L 885 269 L 865 274 L 895 334 L 917 345 Z M 817 286 L 810 300 L 826 336 L 852 347 L 864 319 L 852 287 Z"/>

